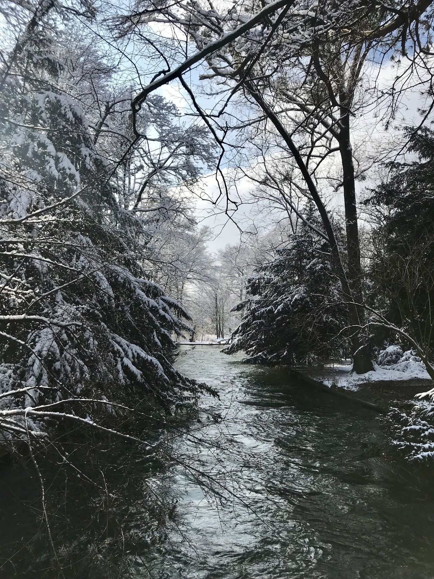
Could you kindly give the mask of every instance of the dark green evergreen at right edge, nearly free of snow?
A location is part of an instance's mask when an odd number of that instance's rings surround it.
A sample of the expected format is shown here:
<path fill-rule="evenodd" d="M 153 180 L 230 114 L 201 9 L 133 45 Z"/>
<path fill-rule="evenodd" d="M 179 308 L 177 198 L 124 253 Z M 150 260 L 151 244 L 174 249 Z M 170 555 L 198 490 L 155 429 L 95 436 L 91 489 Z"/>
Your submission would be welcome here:
<path fill-rule="evenodd" d="M 372 233 L 370 260 L 373 305 L 392 324 L 407 332 L 431 361 L 434 355 L 434 131 L 407 129 L 407 137 L 410 152 L 418 158 L 407 163 L 392 163 L 389 179 L 366 201 L 378 221 Z M 380 331 L 378 339 L 390 338 Z"/>

